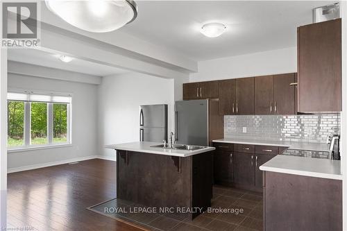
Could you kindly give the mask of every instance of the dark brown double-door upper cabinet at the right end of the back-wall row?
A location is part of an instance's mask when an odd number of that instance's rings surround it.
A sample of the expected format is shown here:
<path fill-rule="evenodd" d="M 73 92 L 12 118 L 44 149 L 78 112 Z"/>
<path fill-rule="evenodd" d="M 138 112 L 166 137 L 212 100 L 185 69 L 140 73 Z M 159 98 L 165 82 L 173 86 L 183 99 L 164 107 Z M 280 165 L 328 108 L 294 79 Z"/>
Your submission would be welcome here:
<path fill-rule="evenodd" d="M 296 74 L 255 77 L 255 114 L 296 114 Z"/>

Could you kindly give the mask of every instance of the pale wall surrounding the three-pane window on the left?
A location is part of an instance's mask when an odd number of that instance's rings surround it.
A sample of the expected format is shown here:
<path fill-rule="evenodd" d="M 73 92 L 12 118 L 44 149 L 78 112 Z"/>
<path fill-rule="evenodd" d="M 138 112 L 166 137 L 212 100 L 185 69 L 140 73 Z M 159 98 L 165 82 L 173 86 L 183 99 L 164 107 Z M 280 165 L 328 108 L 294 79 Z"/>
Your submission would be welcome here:
<path fill-rule="evenodd" d="M 97 85 L 8 74 L 8 88 L 71 92 L 72 146 L 8 153 L 8 169 L 97 155 Z"/>

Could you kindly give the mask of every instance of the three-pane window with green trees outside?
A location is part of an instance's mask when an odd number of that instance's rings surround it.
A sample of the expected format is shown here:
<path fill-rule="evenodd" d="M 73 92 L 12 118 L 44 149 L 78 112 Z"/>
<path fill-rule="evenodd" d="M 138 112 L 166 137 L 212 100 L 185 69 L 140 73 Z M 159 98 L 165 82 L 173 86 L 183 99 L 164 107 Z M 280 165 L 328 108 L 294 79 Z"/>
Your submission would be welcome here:
<path fill-rule="evenodd" d="M 71 96 L 8 93 L 8 149 L 70 144 Z"/>

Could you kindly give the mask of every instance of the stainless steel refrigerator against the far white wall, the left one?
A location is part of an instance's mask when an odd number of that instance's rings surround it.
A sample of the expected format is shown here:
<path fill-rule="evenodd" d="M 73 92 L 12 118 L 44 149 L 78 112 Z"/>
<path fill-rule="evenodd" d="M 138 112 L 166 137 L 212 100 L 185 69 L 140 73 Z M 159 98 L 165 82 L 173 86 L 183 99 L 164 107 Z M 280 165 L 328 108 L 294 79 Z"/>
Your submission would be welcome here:
<path fill-rule="evenodd" d="M 139 106 L 139 141 L 167 140 L 167 104 Z"/>

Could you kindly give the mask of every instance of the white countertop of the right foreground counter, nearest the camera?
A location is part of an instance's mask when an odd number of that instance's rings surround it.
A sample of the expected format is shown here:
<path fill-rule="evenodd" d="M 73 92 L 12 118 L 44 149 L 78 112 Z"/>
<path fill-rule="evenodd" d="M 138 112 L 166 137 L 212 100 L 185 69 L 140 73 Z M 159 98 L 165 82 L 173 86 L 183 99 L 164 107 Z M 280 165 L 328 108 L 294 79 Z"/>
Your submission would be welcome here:
<path fill-rule="evenodd" d="M 342 180 L 341 161 L 317 158 L 276 155 L 259 167 L 262 171 L 288 173 L 315 178 Z"/>

